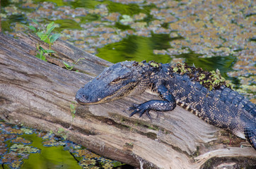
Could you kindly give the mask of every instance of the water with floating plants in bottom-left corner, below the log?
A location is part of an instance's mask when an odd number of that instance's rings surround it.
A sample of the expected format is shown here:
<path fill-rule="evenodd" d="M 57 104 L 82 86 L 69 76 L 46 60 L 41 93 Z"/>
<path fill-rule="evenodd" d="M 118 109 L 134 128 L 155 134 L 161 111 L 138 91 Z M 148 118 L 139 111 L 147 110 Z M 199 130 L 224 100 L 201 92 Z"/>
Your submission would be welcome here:
<path fill-rule="evenodd" d="M 33 140 L 33 141 L 30 141 Z M 0 119 L 0 165 L 4 168 L 38 168 L 52 163 L 67 168 L 114 168 L 124 165 L 93 154 L 82 146 L 57 137 L 52 132 L 39 132 L 28 127 L 4 123 Z M 34 155 L 33 155 L 34 154 Z M 30 156 L 33 156 L 30 160 Z M 37 156 L 35 159 L 34 157 Z M 60 158 L 61 157 L 61 158 Z M 75 159 L 76 160 L 75 160 Z M 38 161 L 38 163 L 36 162 Z"/>

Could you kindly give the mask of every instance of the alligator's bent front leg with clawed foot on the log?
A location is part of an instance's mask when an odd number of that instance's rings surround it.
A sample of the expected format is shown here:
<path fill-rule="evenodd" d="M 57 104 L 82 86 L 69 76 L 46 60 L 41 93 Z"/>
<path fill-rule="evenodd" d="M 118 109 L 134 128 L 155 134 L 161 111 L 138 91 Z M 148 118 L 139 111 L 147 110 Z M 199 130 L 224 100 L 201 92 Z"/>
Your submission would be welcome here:
<path fill-rule="evenodd" d="M 173 111 L 176 106 L 175 97 L 171 94 L 168 89 L 161 85 L 158 87 L 158 94 L 161 96 L 163 100 L 151 100 L 146 101 L 143 104 L 133 104 L 132 107 L 129 108 L 129 111 L 133 111 L 129 116 L 139 113 L 139 117 L 146 113 L 148 117 L 151 119 L 149 111 Z"/>

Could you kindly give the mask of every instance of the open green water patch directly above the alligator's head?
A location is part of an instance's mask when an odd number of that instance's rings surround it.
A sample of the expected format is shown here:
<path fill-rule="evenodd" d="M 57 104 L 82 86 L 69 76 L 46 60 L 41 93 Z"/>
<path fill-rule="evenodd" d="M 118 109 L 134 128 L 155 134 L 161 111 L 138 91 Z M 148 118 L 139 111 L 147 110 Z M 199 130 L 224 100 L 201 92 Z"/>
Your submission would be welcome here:
<path fill-rule="evenodd" d="M 153 49 L 168 49 L 170 38 L 166 35 L 154 35 L 152 37 L 130 36 L 114 44 L 108 44 L 98 49 L 100 58 L 112 63 L 120 61 L 156 61 L 168 63 L 171 58 L 167 55 L 153 54 Z"/>

